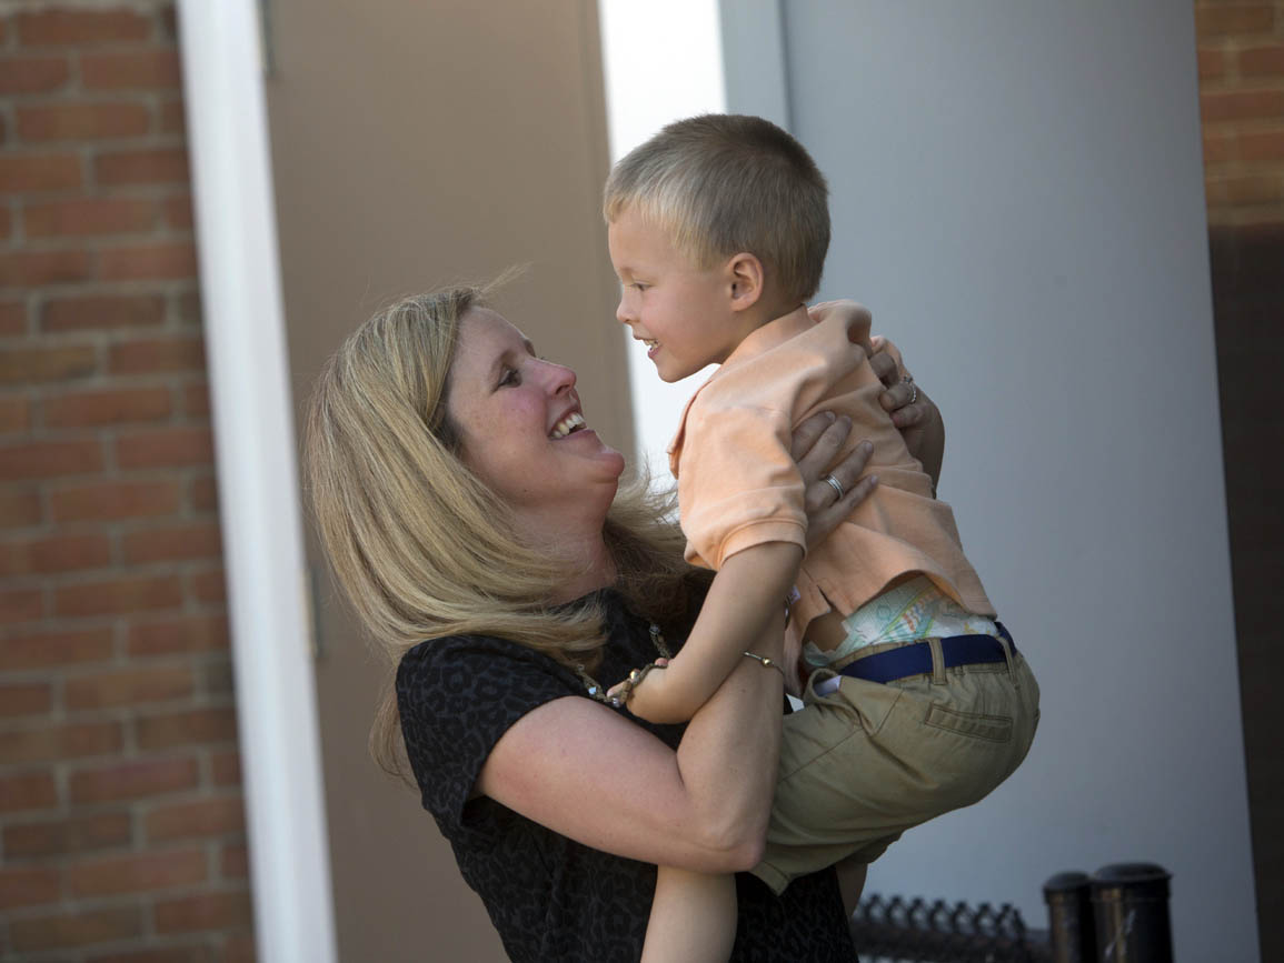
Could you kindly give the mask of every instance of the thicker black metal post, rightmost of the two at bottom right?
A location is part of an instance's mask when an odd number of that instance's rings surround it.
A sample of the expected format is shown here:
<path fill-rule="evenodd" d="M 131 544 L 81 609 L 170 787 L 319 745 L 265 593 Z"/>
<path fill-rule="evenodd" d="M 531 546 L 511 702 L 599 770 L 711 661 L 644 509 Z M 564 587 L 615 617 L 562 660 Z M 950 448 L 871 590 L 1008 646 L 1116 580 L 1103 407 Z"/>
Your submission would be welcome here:
<path fill-rule="evenodd" d="M 1153 863 L 1115 863 L 1093 873 L 1099 963 L 1172 963 L 1171 878 Z"/>

